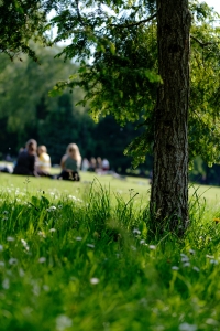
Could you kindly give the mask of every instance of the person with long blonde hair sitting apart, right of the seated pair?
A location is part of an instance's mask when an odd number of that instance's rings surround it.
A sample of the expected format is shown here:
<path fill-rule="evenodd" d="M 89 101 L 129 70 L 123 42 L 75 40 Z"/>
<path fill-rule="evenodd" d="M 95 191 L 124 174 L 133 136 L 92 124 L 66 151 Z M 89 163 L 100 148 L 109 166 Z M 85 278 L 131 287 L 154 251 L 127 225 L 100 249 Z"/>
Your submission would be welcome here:
<path fill-rule="evenodd" d="M 76 143 L 69 143 L 66 153 L 61 161 L 62 173 L 57 177 L 63 180 L 79 181 L 79 169 L 81 166 L 81 154 Z"/>

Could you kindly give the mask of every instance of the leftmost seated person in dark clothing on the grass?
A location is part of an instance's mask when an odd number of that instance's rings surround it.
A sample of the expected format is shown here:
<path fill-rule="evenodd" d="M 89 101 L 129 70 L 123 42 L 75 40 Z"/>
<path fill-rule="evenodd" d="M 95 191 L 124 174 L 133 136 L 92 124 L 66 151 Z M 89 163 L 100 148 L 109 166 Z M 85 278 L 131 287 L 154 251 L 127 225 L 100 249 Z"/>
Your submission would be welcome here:
<path fill-rule="evenodd" d="M 14 174 L 37 177 L 36 148 L 37 143 L 34 139 L 26 141 L 25 149 L 19 153 L 16 164 L 13 170 Z"/>

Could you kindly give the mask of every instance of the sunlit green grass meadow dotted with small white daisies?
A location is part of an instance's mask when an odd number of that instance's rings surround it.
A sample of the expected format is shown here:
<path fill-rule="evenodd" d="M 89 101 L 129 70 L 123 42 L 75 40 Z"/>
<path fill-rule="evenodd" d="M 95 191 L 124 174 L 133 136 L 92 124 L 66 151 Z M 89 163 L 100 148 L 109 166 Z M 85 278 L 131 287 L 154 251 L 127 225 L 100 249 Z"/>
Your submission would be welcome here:
<path fill-rule="evenodd" d="M 220 189 L 190 185 L 186 235 L 152 242 L 150 190 L 0 173 L 0 330 L 220 330 Z"/>

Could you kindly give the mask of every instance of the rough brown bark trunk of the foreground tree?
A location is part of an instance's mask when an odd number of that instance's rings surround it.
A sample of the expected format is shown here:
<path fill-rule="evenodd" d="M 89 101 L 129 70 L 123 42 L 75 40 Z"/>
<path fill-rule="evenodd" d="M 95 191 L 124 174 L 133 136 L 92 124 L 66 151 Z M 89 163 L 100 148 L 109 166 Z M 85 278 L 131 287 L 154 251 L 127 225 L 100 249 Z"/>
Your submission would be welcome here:
<path fill-rule="evenodd" d="M 155 108 L 152 228 L 184 233 L 188 224 L 188 0 L 157 0 L 158 67 Z"/>

